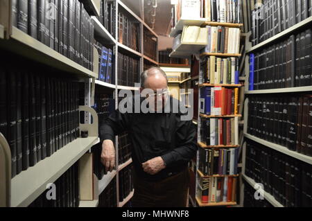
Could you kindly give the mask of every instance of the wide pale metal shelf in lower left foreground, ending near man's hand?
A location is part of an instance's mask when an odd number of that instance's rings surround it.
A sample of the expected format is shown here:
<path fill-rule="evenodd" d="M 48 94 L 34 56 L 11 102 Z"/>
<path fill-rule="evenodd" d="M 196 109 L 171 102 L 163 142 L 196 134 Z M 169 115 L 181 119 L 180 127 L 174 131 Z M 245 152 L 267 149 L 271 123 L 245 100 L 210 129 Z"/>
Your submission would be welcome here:
<path fill-rule="evenodd" d="M 22 171 L 11 180 L 11 206 L 28 206 L 46 190 L 46 184 L 55 182 L 73 163 L 99 142 L 98 137 L 78 138 Z"/>

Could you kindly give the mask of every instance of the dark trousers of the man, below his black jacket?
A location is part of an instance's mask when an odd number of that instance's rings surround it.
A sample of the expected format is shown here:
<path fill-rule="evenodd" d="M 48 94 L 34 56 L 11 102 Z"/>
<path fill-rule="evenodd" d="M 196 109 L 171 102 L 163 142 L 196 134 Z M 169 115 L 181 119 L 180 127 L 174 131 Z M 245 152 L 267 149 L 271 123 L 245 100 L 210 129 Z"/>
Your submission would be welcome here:
<path fill-rule="evenodd" d="M 189 169 L 159 182 L 148 182 L 134 174 L 133 207 L 185 207 L 189 190 Z"/>

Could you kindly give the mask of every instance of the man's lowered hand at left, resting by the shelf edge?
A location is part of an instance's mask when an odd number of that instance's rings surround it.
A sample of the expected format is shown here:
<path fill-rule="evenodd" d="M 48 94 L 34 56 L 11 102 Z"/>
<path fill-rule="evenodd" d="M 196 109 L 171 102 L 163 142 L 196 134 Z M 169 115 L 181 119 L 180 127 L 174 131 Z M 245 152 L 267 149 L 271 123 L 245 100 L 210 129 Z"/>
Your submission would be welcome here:
<path fill-rule="evenodd" d="M 115 148 L 111 140 L 104 140 L 102 144 L 101 161 L 106 172 L 112 171 L 115 167 Z"/>

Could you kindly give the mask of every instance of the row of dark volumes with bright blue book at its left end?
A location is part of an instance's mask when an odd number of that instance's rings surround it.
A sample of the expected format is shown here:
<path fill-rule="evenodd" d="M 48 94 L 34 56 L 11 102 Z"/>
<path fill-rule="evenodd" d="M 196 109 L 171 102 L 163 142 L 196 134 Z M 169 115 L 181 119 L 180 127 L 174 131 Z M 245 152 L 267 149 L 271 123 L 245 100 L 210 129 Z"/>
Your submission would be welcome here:
<path fill-rule="evenodd" d="M 250 54 L 249 89 L 311 85 L 311 28 Z"/>

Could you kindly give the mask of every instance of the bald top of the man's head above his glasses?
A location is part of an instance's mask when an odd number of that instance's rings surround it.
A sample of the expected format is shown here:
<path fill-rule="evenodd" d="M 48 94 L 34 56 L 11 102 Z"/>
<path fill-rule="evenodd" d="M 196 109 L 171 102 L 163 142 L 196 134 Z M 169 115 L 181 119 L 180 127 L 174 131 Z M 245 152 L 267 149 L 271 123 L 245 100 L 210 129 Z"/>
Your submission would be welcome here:
<path fill-rule="evenodd" d="M 141 73 L 141 87 L 156 89 L 166 89 L 168 80 L 166 73 L 159 67 L 152 67 Z"/>

